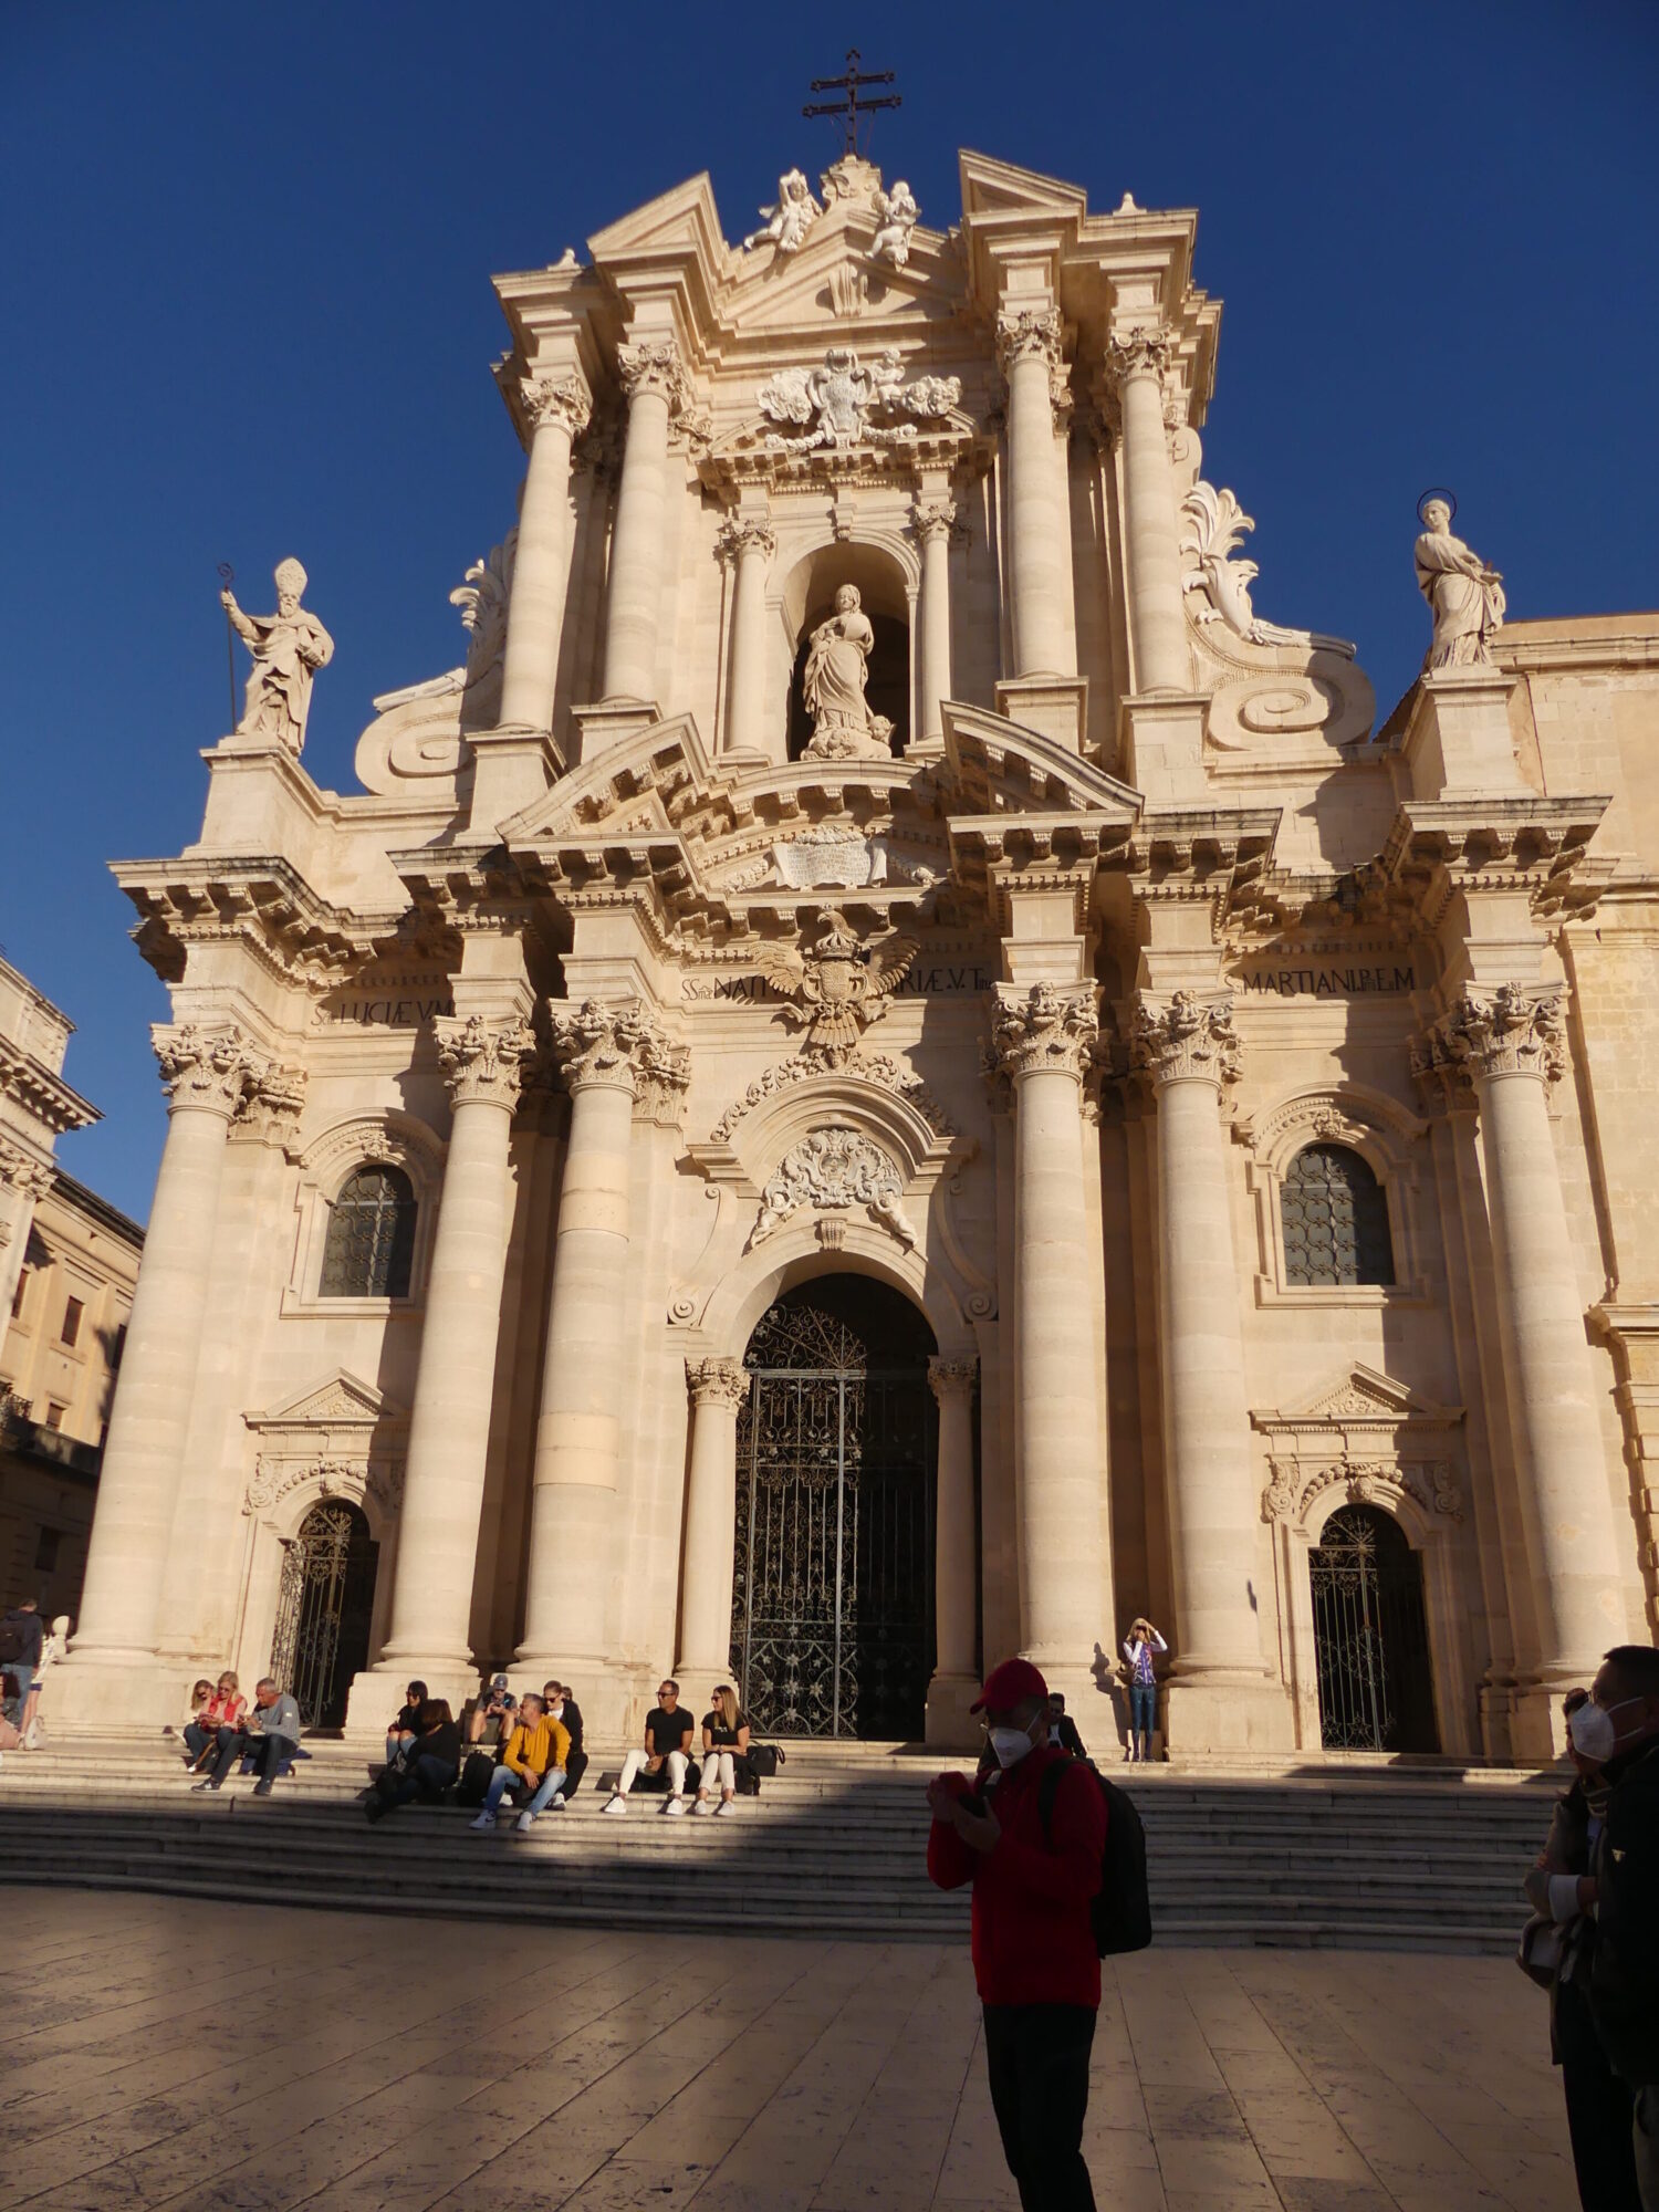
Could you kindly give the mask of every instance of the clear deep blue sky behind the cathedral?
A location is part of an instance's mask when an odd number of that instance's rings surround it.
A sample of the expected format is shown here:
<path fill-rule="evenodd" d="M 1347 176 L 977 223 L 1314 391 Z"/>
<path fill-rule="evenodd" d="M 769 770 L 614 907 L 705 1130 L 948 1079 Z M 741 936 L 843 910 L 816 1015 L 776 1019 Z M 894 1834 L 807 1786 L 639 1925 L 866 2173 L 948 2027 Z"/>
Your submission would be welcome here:
<path fill-rule="evenodd" d="M 305 562 L 336 637 L 305 759 L 349 787 L 372 695 L 460 659 L 447 593 L 513 515 L 491 272 L 699 168 L 741 237 L 834 157 L 799 108 L 852 42 L 900 75 L 872 153 L 931 223 L 958 146 L 1201 210 L 1206 473 L 1256 518 L 1259 611 L 1358 639 L 1383 710 L 1429 482 L 1513 617 L 1659 604 L 1650 4 L 9 0 L 0 942 L 80 1024 L 106 1119 L 60 1157 L 117 1206 L 148 1212 L 166 1004 L 104 863 L 199 827 L 215 562 L 259 611 Z"/>

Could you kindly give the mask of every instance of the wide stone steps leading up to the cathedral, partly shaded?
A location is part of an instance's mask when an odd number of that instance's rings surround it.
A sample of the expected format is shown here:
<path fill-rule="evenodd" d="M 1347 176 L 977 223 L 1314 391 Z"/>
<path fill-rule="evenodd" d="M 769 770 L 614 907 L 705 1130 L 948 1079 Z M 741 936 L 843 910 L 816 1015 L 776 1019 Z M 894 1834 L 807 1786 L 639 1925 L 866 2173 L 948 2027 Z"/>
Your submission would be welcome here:
<path fill-rule="evenodd" d="M 584 1787 L 529 1836 L 491 1838 L 453 1807 L 367 1827 L 365 1759 L 336 1743 L 272 1798 L 243 1781 L 197 1796 L 166 1745 L 75 1745 L 4 1761 L 0 1882 L 657 1927 L 706 1876 L 754 1931 L 960 1938 L 967 1891 L 922 1867 L 938 1761 L 858 1752 L 803 1747 L 728 1820 L 666 1820 L 650 1798 L 608 1820 Z M 1161 1942 L 1506 1951 L 1553 1796 L 1422 1772 L 1115 1778 L 1146 1820 Z"/>

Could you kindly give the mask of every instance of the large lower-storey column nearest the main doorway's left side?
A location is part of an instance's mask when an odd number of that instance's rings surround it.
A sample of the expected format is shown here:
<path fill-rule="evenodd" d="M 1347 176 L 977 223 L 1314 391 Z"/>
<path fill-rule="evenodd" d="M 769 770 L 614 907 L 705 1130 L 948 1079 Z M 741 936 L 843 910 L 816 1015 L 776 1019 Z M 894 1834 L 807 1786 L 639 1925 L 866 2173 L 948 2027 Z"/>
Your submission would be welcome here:
<path fill-rule="evenodd" d="M 586 1679 L 606 1655 L 622 1473 L 628 1298 L 628 1150 L 644 1082 L 686 1086 L 688 1057 L 644 1000 L 553 1009 L 571 1093 L 553 1303 L 535 1427 L 535 1495 L 524 1599 L 526 1672 L 566 1663 Z"/>

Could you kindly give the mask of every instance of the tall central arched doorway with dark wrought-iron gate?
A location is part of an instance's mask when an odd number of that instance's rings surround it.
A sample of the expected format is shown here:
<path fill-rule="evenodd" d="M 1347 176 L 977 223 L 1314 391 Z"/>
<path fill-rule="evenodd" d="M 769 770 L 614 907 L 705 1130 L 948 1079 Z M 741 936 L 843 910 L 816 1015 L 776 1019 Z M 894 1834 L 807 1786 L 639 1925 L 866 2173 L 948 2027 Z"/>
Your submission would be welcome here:
<path fill-rule="evenodd" d="M 737 1431 L 732 1672 L 757 1730 L 922 1734 L 933 1670 L 933 1334 L 821 1276 L 754 1329 Z"/>

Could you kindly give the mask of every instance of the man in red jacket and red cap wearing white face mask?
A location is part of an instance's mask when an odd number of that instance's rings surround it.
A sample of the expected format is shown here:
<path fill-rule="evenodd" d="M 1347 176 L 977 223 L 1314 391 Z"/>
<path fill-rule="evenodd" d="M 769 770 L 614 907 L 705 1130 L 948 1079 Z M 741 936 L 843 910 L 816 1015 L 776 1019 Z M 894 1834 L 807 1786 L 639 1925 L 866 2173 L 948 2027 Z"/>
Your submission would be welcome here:
<path fill-rule="evenodd" d="M 973 1882 L 973 1980 L 1002 2150 L 1024 2212 L 1095 2212 L 1084 2163 L 1088 2053 L 1099 1953 L 1088 1900 L 1099 1889 L 1106 1801 L 1082 1761 L 1048 1741 L 1048 1683 L 1004 1659 L 973 1708 L 984 1714 L 984 1781 L 940 1774 L 927 1787 L 927 1871 L 940 1889 Z M 1042 1776 L 1066 1772 L 1044 1834 Z"/>

